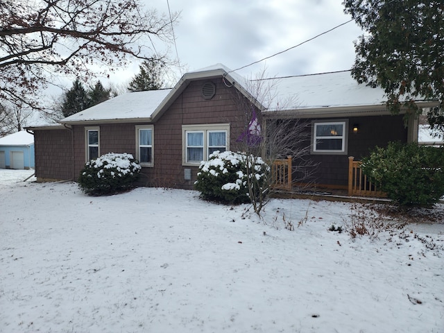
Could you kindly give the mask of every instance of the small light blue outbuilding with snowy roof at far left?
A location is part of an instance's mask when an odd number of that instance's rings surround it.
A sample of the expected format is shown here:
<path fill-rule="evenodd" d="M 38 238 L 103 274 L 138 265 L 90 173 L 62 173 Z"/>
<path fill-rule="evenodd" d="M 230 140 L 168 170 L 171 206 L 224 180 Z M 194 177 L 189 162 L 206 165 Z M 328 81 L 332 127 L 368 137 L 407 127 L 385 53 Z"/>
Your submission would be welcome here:
<path fill-rule="evenodd" d="M 0 169 L 33 169 L 34 136 L 26 130 L 0 138 Z"/>

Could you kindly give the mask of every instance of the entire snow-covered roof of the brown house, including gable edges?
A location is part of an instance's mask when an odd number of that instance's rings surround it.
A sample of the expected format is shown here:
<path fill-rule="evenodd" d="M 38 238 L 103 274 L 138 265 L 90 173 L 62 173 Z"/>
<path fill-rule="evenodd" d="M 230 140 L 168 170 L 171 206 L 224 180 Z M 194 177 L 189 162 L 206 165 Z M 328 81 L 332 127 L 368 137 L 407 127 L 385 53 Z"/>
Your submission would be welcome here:
<path fill-rule="evenodd" d="M 270 105 L 261 105 L 250 93 L 255 80 L 247 80 L 222 64 L 212 65 L 184 74 L 172 89 L 128 92 L 88 108 L 60 123 L 83 121 L 156 121 L 193 80 L 223 77 L 225 84 L 234 85 L 266 117 L 343 117 L 352 114 L 388 114 L 384 90 L 359 85 L 350 71 L 307 76 L 265 79 L 275 95 Z M 433 102 L 432 105 L 436 103 Z M 424 106 L 432 106 L 424 105 Z"/>

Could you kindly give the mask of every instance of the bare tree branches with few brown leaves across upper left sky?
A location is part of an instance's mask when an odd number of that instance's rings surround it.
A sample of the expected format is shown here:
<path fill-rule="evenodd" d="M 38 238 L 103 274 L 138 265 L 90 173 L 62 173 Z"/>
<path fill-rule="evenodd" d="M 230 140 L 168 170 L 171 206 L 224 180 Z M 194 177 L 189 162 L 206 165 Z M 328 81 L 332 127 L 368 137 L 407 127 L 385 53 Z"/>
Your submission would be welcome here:
<path fill-rule="evenodd" d="M 130 58 L 167 61 L 171 17 L 139 0 L 0 2 L 0 103 L 38 108 L 54 74 L 107 75 Z"/>

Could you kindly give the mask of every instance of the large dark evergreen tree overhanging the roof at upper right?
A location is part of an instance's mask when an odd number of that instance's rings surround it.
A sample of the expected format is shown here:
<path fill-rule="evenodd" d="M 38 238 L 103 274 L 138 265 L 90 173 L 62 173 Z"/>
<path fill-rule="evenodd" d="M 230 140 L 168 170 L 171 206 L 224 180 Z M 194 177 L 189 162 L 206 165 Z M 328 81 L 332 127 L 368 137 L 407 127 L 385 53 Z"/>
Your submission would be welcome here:
<path fill-rule="evenodd" d="M 366 31 L 355 42 L 352 76 L 381 86 L 388 108 L 417 110 L 414 101 L 438 99 L 427 112 L 432 127 L 444 133 L 444 5 L 442 0 L 345 0 L 345 13 Z"/>

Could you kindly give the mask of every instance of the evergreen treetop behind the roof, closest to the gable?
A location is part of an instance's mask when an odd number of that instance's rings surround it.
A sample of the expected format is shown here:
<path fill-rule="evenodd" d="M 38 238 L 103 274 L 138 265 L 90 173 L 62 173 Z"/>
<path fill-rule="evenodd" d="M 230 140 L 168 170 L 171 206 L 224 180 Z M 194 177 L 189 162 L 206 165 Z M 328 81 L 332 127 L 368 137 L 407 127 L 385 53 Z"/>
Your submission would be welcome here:
<path fill-rule="evenodd" d="M 162 79 L 164 63 L 160 60 L 150 60 L 139 65 L 139 74 L 135 75 L 128 85 L 130 92 L 142 92 L 145 90 L 161 89 L 164 81 Z"/>

